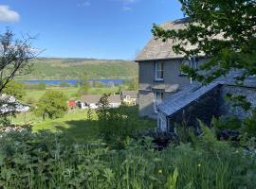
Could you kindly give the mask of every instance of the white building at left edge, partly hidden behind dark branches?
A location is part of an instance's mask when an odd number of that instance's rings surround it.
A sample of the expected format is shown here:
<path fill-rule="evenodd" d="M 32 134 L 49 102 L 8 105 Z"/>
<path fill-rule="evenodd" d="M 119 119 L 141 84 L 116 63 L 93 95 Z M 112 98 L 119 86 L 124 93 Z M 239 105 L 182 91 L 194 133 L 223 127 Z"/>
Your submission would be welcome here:
<path fill-rule="evenodd" d="M 15 97 L 8 94 L 1 94 L 0 96 L 0 114 L 28 112 L 29 107 L 18 102 Z"/>

